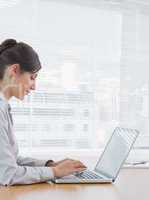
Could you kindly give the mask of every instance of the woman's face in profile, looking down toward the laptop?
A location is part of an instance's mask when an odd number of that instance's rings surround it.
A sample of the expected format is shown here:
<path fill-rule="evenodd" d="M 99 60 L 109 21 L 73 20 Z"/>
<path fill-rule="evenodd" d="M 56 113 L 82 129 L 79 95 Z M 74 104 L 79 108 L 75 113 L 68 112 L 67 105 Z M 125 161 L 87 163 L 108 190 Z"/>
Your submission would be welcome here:
<path fill-rule="evenodd" d="M 31 90 L 35 90 L 36 86 L 36 73 L 23 72 L 16 80 L 16 84 L 13 87 L 13 95 L 16 98 L 23 100 L 24 96 L 29 94 Z"/>

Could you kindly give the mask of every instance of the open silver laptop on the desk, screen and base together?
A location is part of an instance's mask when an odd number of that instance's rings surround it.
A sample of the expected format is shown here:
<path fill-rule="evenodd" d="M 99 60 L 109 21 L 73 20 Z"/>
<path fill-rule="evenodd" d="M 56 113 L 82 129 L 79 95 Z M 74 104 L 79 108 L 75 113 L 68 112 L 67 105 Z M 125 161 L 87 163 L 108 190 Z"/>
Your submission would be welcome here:
<path fill-rule="evenodd" d="M 94 170 L 85 170 L 62 178 L 54 183 L 112 183 L 125 162 L 139 131 L 116 127 Z"/>

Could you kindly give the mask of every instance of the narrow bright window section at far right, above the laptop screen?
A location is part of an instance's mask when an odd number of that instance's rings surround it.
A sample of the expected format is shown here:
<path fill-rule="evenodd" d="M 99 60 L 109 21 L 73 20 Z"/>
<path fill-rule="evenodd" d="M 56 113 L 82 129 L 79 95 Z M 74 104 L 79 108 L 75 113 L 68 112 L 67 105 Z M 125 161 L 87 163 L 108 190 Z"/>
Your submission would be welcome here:
<path fill-rule="evenodd" d="M 120 121 L 140 130 L 135 146 L 143 149 L 149 147 L 148 20 L 145 9 L 123 14 L 120 67 Z"/>

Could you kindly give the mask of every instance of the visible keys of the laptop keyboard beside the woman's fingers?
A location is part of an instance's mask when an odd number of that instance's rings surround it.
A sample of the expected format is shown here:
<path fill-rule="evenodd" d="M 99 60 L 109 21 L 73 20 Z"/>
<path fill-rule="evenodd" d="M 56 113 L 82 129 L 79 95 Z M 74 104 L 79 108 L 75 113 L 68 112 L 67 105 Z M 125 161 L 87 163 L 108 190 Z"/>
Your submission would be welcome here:
<path fill-rule="evenodd" d="M 81 173 L 76 173 L 75 176 L 81 179 L 103 179 L 101 176 L 87 170 Z"/>

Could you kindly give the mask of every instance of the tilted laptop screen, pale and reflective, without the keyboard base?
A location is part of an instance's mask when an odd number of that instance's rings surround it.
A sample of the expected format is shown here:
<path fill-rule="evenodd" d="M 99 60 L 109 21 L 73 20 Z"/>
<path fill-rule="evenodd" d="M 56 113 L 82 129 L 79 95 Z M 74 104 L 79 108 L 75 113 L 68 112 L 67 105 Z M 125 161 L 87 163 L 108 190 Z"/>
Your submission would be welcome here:
<path fill-rule="evenodd" d="M 102 153 L 95 171 L 114 180 L 138 134 L 139 132 L 135 129 L 117 127 Z"/>

